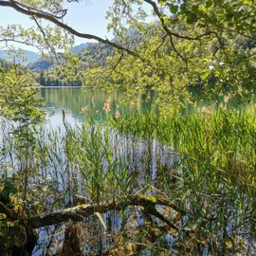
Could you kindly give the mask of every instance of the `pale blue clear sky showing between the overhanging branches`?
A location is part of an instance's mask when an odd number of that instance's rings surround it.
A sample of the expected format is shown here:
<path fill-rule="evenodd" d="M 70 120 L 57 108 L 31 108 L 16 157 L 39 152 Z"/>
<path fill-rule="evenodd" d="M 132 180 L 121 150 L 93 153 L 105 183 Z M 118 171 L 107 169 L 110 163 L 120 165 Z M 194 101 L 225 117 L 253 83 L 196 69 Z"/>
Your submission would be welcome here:
<path fill-rule="evenodd" d="M 106 11 L 111 2 L 111 0 L 83 0 L 79 4 L 68 4 L 68 12 L 64 22 L 79 31 L 111 39 L 112 35 L 107 33 L 107 20 L 105 19 Z M 24 27 L 31 27 L 33 22 L 23 14 L 9 8 L 0 7 L 0 26 L 5 27 L 9 24 L 21 24 Z M 76 45 L 84 42 L 86 42 L 84 39 L 76 38 Z M 29 46 L 19 46 L 24 49 L 33 49 Z"/>

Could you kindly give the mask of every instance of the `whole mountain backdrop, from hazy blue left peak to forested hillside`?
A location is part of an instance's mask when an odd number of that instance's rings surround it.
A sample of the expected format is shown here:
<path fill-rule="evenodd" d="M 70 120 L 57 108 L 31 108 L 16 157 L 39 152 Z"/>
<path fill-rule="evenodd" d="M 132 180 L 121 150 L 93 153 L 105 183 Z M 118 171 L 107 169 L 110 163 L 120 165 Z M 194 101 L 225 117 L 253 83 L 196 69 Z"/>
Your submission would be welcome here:
<path fill-rule="evenodd" d="M 126 42 L 123 46 L 134 48 L 141 40 L 140 33 L 136 29 L 130 29 L 127 31 Z M 113 38 L 112 41 L 122 44 L 119 37 Z M 13 53 L 0 51 L 0 60 L 26 65 L 29 72 L 34 73 L 37 82 L 44 86 L 81 86 L 85 80 L 84 70 L 104 66 L 107 63 L 107 57 L 114 54 L 113 46 L 100 43 L 85 43 L 74 46 L 71 52 L 78 59 L 75 64 L 66 63 L 62 52 L 58 53 L 61 64 L 57 64 L 57 61 L 50 56 L 40 56 L 27 50 L 23 54 L 19 54 L 19 51 Z"/>

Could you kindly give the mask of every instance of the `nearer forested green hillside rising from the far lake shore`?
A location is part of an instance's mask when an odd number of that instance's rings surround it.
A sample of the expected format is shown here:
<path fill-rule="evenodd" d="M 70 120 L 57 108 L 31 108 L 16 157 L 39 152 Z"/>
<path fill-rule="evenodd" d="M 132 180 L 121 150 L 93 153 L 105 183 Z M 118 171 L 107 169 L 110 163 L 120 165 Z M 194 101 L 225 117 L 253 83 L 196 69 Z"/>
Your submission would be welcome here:
<path fill-rule="evenodd" d="M 140 33 L 136 29 L 131 29 L 127 31 L 124 46 L 134 48 L 141 41 Z M 121 44 L 119 37 L 115 37 L 113 42 Z M 72 52 L 76 52 L 79 60 L 77 64 L 70 66 L 70 64 L 62 63 L 60 66 L 52 63 L 47 69 L 36 70 L 31 68 L 31 65 L 29 68 L 38 73 L 37 81 L 43 86 L 81 86 L 85 80 L 84 70 L 104 66 L 107 63 L 107 57 L 114 54 L 113 46 L 100 43 L 82 44 L 74 47 Z"/>

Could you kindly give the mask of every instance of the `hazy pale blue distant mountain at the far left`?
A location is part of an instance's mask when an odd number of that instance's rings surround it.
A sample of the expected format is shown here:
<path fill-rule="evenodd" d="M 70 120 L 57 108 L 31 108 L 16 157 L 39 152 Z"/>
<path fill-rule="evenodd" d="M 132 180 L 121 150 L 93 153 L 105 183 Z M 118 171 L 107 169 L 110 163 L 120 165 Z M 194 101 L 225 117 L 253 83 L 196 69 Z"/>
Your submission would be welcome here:
<path fill-rule="evenodd" d="M 13 62 L 16 64 L 27 65 L 38 61 L 40 59 L 40 54 L 29 50 L 17 52 L 2 50 L 0 51 L 0 59 L 4 61 Z"/>

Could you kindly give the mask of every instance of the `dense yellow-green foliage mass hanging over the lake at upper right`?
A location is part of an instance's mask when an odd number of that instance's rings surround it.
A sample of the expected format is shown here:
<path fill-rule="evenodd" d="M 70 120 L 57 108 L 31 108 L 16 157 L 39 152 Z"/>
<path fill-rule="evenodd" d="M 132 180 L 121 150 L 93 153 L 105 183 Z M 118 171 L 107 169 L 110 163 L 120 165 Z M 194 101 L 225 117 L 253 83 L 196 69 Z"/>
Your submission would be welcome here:
<path fill-rule="evenodd" d="M 156 22 L 141 22 L 143 3 L 152 7 Z M 150 87 L 166 113 L 184 98 L 192 100 L 188 88 L 200 88 L 211 99 L 232 94 L 247 100 L 255 93 L 253 1 L 114 1 L 109 18 L 123 44 L 127 29 L 137 28 L 137 56 L 117 50 L 108 69 L 87 70 L 85 84 L 119 85 L 129 96 Z"/>

